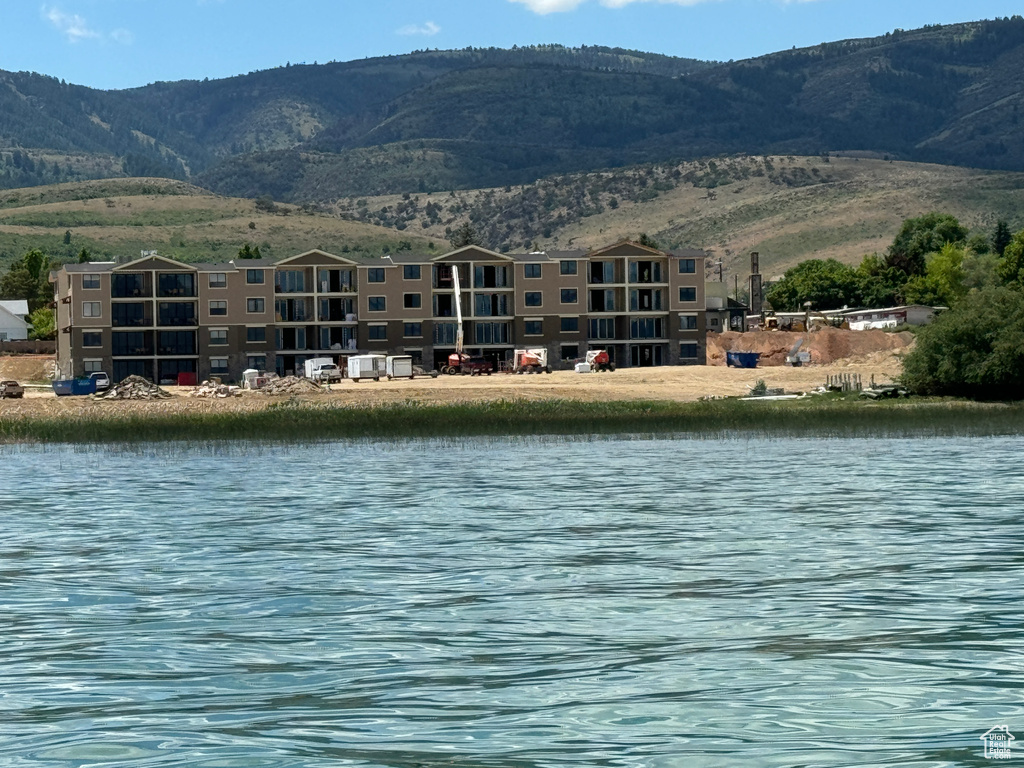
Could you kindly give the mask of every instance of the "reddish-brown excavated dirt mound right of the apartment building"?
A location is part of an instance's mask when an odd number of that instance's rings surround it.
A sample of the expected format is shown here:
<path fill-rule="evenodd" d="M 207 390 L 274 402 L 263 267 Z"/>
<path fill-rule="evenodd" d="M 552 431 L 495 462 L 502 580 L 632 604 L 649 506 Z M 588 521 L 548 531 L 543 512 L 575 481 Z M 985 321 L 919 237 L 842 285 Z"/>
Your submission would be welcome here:
<path fill-rule="evenodd" d="M 822 328 L 811 333 L 728 331 L 708 334 L 708 365 L 724 366 L 726 352 L 760 352 L 760 366 L 784 366 L 785 356 L 801 339 L 802 352 L 810 352 L 811 364 L 824 365 L 847 358 L 866 357 L 879 352 L 904 350 L 913 343 L 913 334 L 886 331 L 847 331 Z"/>

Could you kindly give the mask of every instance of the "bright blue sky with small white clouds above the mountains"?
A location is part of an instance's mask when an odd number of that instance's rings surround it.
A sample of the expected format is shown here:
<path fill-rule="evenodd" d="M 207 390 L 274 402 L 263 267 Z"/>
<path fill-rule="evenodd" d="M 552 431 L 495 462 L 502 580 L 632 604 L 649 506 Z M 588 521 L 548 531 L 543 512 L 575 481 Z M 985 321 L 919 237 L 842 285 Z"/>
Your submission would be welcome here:
<path fill-rule="evenodd" d="M 0 0 L 0 69 L 128 88 L 470 45 L 725 60 L 1020 12 L 1020 0 Z"/>

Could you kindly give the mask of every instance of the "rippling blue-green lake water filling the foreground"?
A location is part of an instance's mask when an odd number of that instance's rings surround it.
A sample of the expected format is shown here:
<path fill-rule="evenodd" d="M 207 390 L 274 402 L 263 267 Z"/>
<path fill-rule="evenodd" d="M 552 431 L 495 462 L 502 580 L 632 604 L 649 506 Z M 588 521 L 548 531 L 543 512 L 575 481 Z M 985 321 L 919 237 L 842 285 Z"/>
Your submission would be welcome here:
<path fill-rule="evenodd" d="M 0 766 L 988 764 L 1022 449 L 3 447 Z"/>

